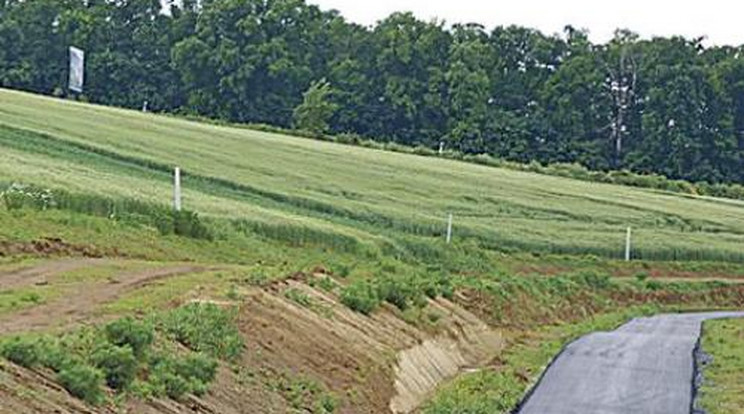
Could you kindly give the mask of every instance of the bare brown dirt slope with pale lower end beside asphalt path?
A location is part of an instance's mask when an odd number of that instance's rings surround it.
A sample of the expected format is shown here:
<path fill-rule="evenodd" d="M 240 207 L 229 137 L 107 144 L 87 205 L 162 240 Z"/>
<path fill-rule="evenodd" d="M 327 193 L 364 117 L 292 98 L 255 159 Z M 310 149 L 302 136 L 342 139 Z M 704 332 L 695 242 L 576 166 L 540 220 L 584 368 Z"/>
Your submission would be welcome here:
<path fill-rule="evenodd" d="M 263 355 L 284 367 L 320 379 L 343 398 L 344 413 L 408 413 L 462 369 L 486 364 L 502 348 L 501 335 L 465 309 L 444 299 L 430 301 L 435 324 L 420 326 L 392 307 L 364 316 L 333 295 L 288 281 L 277 293 L 296 289 L 312 298 L 303 307 L 281 294 L 259 292 L 246 301 L 243 330 L 250 360 Z M 293 368 L 295 367 L 295 368 Z"/>

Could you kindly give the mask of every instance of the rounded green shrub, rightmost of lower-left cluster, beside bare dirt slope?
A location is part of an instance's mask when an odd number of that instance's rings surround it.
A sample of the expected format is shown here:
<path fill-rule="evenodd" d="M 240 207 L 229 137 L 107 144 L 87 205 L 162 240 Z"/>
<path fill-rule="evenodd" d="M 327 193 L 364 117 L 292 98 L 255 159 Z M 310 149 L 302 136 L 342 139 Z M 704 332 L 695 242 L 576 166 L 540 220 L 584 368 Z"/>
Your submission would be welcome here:
<path fill-rule="evenodd" d="M 191 303 L 164 314 L 160 322 L 165 333 L 194 351 L 234 360 L 243 350 L 235 312 L 217 305 Z"/>

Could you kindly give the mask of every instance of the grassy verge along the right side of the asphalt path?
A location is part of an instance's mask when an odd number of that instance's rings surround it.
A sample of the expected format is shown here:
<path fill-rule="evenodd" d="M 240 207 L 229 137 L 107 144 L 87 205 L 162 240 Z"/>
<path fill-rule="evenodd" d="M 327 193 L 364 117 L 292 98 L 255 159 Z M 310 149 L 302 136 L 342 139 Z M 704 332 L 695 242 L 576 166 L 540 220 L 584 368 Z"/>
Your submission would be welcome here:
<path fill-rule="evenodd" d="M 713 320 L 703 326 L 703 366 L 698 407 L 707 414 L 744 412 L 744 319 Z"/>

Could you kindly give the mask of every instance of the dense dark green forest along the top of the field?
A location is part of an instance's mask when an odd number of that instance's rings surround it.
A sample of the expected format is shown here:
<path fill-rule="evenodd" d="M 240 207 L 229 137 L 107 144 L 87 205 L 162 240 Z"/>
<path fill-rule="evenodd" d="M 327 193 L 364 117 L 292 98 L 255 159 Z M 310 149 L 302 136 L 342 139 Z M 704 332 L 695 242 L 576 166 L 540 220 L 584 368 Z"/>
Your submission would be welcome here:
<path fill-rule="evenodd" d="M 744 47 L 408 13 L 363 27 L 303 0 L 0 0 L 1 86 L 68 96 L 69 46 L 91 102 L 744 182 Z"/>

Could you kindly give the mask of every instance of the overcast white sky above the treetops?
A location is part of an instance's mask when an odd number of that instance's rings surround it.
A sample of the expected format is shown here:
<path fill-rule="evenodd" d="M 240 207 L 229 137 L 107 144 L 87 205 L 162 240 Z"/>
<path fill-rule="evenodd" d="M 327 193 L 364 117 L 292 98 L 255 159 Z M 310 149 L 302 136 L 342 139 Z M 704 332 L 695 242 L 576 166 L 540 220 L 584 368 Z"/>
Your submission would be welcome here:
<path fill-rule="evenodd" d="M 643 37 L 706 36 L 708 45 L 744 44 L 742 0 L 308 0 L 336 9 L 349 20 L 369 25 L 394 11 L 412 11 L 424 20 L 476 22 L 492 28 L 518 24 L 551 34 L 567 24 L 586 28 L 595 42 L 618 27 Z"/>

